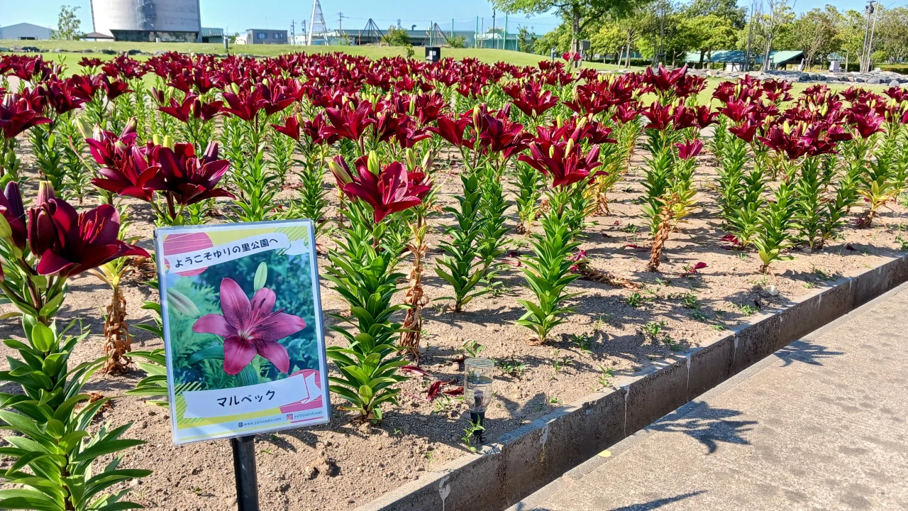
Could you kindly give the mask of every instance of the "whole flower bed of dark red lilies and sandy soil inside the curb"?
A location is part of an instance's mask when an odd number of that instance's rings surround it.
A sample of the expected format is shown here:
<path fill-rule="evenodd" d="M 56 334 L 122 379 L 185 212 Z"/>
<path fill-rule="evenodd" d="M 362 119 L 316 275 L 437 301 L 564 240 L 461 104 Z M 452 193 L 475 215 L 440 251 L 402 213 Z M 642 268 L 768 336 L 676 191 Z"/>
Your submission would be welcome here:
<path fill-rule="evenodd" d="M 108 239 L 114 207 L 144 246 L 154 225 L 319 221 L 335 416 L 259 437 L 266 508 L 349 508 L 475 448 L 478 425 L 460 398 L 465 356 L 496 360 L 496 398 L 481 425 L 494 440 L 903 248 L 901 89 L 817 86 L 793 98 L 790 85 L 745 78 L 696 105 L 705 84 L 683 69 L 602 77 L 560 65 L 196 58 L 86 60 L 84 75 L 65 81 L 35 57 L 0 61 L 0 75 L 6 63 L 27 87 L 6 93 L 0 111 L 3 179 L 35 197 L 27 215 L 13 192 L 0 204 L 14 302 L 3 310 L 23 312 L 26 325 L 59 316 L 94 326 L 98 336 L 60 345 L 71 366 L 108 356 L 95 364 L 110 376 L 92 376 L 86 399 L 139 386 L 97 411 L 114 426 L 133 421 L 128 435 L 147 442 L 123 444 L 133 448 L 122 466 L 153 474 L 114 481 L 146 506 L 227 505 L 232 475 L 226 443 L 173 447 L 166 408 L 144 403 L 163 392 L 131 366 L 161 371 L 153 305 L 140 308 L 156 289 L 141 284 L 153 278 L 147 265 L 128 258 L 139 249 Z M 159 78 L 145 89 L 149 70 Z M 85 216 L 81 232 L 103 231 L 85 239 L 115 250 L 76 258 L 67 243 L 79 236 L 47 241 L 41 212 L 99 203 L 91 215 L 106 223 Z M 68 232 L 67 215 L 57 231 Z M 18 326 L 4 328 L 23 340 Z M 219 364 L 238 377 L 242 367 L 225 355 L 181 367 L 180 377 Z M 16 413 L 47 420 L 6 399 L 6 422 Z M 94 434 L 99 425 L 66 427 Z M 115 446 L 80 459 L 109 460 Z M 22 450 L 4 454 L 6 467 L 25 456 L 23 466 L 40 471 Z"/>

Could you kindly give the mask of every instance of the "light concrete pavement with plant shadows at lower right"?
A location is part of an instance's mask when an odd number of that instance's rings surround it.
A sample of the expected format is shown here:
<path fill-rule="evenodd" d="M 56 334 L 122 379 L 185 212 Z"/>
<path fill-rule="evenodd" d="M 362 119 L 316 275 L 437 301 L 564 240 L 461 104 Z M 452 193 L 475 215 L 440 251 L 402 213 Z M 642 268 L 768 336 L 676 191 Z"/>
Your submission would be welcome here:
<path fill-rule="evenodd" d="M 908 285 L 508 511 L 908 510 Z"/>

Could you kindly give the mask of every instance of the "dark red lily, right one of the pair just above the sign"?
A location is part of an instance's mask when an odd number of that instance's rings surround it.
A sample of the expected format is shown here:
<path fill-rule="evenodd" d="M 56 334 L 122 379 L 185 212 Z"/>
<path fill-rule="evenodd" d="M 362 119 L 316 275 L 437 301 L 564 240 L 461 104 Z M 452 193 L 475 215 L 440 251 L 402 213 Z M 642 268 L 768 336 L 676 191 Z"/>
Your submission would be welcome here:
<path fill-rule="evenodd" d="M 175 144 L 173 149 L 158 145 L 153 147 L 149 159 L 161 170 L 143 185 L 171 195 L 175 204 L 192 205 L 212 197 L 235 198 L 217 187 L 230 162 L 218 159 L 216 142 L 208 145 L 202 157 L 195 155 L 192 144 Z"/>

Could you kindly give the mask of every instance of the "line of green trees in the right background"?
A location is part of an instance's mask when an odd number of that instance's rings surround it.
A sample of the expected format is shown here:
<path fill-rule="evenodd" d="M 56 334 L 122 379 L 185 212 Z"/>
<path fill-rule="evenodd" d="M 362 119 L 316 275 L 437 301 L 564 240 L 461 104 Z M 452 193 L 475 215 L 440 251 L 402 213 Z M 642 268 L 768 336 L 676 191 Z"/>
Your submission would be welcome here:
<path fill-rule="evenodd" d="M 772 51 L 800 50 L 807 65 L 830 56 L 854 63 L 861 58 L 865 32 L 873 33 L 871 61 L 901 64 L 908 59 L 908 7 L 874 5 L 873 14 L 834 5 L 795 13 L 793 0 L 495 0 L 499 9 L 528 15 L 558 12 L 563 21 L 541 35 L 534 53 L 578 51 L 590 42 L 590 55 L 630 65 L 638 53 L 646 61 L 680 65 L 696 52 L 696 65 L 710 65 L 717 50 L 747 50 L 768 65 Z M 619 62 L 620 60 L 620 62 Z"/>

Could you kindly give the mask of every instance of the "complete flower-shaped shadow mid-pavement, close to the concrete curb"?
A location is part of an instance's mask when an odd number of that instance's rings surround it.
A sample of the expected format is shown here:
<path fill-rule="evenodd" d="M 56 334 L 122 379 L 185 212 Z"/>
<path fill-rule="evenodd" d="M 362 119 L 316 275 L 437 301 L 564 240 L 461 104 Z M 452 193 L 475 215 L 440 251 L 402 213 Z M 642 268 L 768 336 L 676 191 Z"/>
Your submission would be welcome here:
<path fill-rule="evenodd" d="M 752 430 L 752 426 L 758 421 L 730 420 L 732 417 L 740 415 L 741 412 L 738 410 L 713 408 L 706 402 L 695 401 L 689 406 L 672 412 L 665 419 L 647 429 L 666 433 L 684 433 L 696 438 L 698 442 L 706 446 L 709 450 L 708 454 L 713 454 L 718 450 L 720 442 L 740 446 L 750 445 L 743 434 Z"/>

